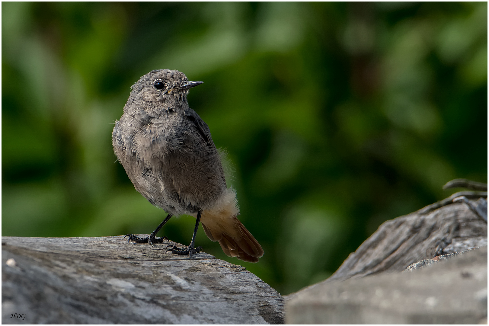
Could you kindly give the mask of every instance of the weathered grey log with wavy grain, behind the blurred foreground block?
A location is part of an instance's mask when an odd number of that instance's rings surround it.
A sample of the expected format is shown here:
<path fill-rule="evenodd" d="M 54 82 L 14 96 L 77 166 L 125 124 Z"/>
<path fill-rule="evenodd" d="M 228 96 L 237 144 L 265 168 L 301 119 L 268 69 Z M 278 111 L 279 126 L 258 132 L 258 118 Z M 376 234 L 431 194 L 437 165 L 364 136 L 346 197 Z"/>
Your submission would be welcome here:
<path fill-rule="evenodd" d="M 487 222 L 465 203 L 452 203 L 458 196 L 484 195 L 487 193 L 456 193 L 414 213 L 385 221 L 328 281 L 402 271 L 423 259 L 487 245 Z"/>

